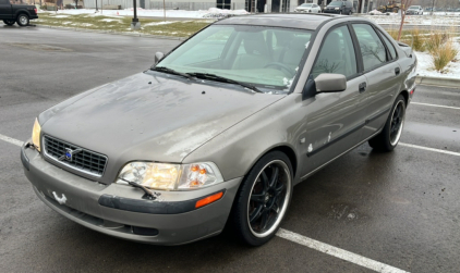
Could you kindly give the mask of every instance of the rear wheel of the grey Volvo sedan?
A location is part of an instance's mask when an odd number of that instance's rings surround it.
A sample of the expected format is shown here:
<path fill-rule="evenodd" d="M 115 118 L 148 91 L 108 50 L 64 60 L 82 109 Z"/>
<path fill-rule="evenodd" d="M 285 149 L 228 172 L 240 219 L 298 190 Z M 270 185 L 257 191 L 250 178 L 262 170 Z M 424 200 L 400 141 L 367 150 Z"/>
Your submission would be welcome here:
<path fill-rule="evenodd" d="M 399 95 L 391 108 L 380 134 L 368 140 L 368 145 L 379 151 L 392 151 L 398 146 L 405 119 L 405 100 Z"/>

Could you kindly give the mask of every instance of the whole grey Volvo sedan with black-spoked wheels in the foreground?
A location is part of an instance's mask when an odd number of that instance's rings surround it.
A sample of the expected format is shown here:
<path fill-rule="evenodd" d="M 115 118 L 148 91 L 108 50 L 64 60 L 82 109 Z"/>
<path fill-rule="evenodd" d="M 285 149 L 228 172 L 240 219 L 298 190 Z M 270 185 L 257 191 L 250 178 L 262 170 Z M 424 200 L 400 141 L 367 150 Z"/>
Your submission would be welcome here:
<path fill-rule="evenodd" d="M 40 113 L 21 159 L 57 212 L 157 245 L 226 224 L 268 241 L 294 185 L 364 141 L 395 149 L 415 90 L 411 49 L 358 17 L 231 17 L 155 59 Z"/>

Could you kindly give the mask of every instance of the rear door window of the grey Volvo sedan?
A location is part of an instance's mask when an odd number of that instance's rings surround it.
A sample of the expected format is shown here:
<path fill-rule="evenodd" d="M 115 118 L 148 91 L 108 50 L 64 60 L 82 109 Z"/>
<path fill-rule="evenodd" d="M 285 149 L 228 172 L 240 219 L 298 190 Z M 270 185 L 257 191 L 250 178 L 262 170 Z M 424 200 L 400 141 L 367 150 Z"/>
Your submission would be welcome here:
<path fill-rule="evenodd" d="M 353 29 L 360 42 L 364 70 L 368 71 L 387 61 L 385 46 L 374 28 L 367 24 L 353 24 Z"/>

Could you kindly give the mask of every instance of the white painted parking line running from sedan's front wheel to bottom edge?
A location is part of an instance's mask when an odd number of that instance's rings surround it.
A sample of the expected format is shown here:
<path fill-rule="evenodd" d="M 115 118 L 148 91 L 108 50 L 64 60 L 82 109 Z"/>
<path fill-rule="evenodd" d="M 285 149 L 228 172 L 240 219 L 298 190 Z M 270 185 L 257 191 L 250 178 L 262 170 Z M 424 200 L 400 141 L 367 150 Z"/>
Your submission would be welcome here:
<path fill-rule="evenodd" d="M 376 272 L 382 273 L 408 273 L 408 271 L 403 271 L 397 268 L 394 268 L 391 265 L 374 261 L 372 259 L 362 257 L 360 255 L 352 253 L 350 251 L 343 250 L 338 247 L 334 247 L 324 243 L 320 243 L 318 240 L 311 239 L 308 237 L 305 237 L 303 235 L 279 228 L 278 233 L 276 234 L 278 237 L 281 237 L 283 239 L 296 243 L 299 245 L 315 249 L 317 251 L 320 251 L 326 255 L 334 256 L 336 258 L 342 259 L 348 262 L 352 262 L 354 264 L 364 266 L 370 270 L 374 270 Z"/>

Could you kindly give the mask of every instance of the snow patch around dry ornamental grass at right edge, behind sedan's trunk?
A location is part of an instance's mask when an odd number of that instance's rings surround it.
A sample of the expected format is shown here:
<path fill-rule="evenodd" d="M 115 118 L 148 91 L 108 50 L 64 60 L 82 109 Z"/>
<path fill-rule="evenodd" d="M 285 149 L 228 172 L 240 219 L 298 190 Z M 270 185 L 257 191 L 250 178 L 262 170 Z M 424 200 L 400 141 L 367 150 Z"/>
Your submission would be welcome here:
<path fill-rule="evenodd" d="M 457 48 L 457 58 L 453 62 L 450 62 L 443 72 L 435 71 L 433 65 L 433 57 L 428 52 L 415 51 L 416 60 L 419 62 L 416 72 L 420 76 L 428 77 L 446 77 L 446 78 L 459 78 L 460 76 L 460 39 L 453 44 Z"/>

